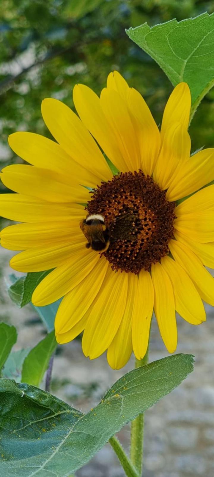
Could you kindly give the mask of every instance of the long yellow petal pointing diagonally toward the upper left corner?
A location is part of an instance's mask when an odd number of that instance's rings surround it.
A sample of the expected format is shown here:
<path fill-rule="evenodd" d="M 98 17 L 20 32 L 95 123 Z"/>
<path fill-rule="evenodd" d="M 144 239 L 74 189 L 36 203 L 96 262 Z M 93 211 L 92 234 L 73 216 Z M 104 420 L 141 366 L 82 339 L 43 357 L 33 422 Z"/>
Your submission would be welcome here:
<path fill-rule="evenodd" d="M 110 169 L 96 142 L 66 104 L 47 98 L 42 101 L 41 112 L 49 131 L 69 156 L 101 180 L 111 178 Z"/>

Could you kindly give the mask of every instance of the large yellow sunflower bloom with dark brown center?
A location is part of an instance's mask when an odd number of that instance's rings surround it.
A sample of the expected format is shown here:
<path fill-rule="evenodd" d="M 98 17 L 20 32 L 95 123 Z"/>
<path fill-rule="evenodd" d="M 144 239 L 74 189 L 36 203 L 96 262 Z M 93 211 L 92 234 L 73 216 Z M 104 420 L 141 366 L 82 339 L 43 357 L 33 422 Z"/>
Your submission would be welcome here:
<path fill-rule="evenodd" d="M 18 194 L 1 195 L 0 213 L 24 223 L 5 228 L 1 245 L 22 250 L 10 260 L 14 270 L 50 270 L 32 302 L 64 297 L 57 341 L 83 332 L 84 354 L 93 359 L 107 350 L 118 369 L 133 350 L 138 359 L 145 355 L 153 310 L 173 353 L 175 311 L 196 325 L 205 320 L 202 300 L 214 305 L 214 279 L 204 267 L 214 267 L 214 185 L 204 187 L 214 179 L 214 149 L 190 157 L 186 83 L 169 97 L 161 132 L 117 72 L 100 98 L 78 84 L 73 99 L 79 117 L 56 99 L 42 102 L 57 142 L 27 132 L 9 136 L 31 165 L 2 170 L 3 184 Z M 97 214 L 108 231 L 108 247 L 99 252 L 79 227 Z"/>

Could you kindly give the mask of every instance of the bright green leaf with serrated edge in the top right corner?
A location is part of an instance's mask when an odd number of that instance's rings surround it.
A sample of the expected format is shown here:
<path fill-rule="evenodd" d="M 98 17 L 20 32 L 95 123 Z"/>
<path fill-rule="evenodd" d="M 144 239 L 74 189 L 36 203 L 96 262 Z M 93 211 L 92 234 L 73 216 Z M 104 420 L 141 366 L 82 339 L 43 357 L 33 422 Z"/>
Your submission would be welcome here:
<path fill-rule="evenodd" d="M 214 85 L 214 13 L 171 20 L 149 27 L 147 23 L 126 30 L 131 40 L 148 53 L 175 86 L 185 81 L 191 96 L 191 117 Z"/>

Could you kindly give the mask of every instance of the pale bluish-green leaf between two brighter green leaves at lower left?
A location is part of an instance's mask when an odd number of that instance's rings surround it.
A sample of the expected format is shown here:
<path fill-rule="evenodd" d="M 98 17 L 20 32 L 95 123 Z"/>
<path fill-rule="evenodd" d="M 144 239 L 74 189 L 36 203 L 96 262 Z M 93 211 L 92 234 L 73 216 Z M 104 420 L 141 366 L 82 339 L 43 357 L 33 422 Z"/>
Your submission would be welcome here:
<path fill-rule="evenodd" d="M 23 348 L 19 351 L 12 351 L 2 370 L 2 376 L 8 379 L 15 379 L 17 383 L 21 382 L 21 371 L 24 359 L 28 355 L 30 348 Z"/>

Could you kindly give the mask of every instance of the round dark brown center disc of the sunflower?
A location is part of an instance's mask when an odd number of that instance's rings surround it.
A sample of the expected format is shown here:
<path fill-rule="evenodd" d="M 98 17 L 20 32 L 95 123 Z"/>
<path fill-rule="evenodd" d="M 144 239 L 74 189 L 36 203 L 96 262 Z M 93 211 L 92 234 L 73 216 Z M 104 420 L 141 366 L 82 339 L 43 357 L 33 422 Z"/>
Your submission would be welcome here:
<path fill-rule="evenodd" d="M 121 173 L 92 192 L 89 214 L 101 214 L 109 230 L 104 255 L 113 270 L 139 273 L 149 270 L 169 253 L 174 237 L 175 203 L 150 176 Z"/>

